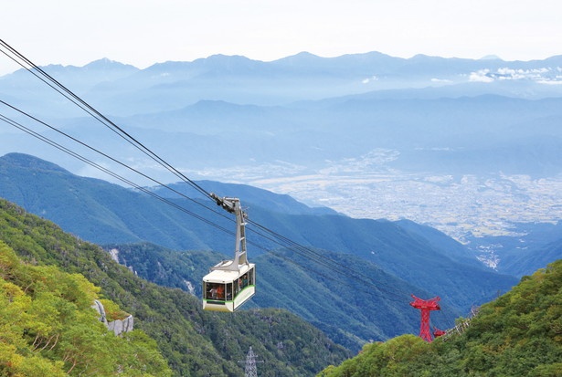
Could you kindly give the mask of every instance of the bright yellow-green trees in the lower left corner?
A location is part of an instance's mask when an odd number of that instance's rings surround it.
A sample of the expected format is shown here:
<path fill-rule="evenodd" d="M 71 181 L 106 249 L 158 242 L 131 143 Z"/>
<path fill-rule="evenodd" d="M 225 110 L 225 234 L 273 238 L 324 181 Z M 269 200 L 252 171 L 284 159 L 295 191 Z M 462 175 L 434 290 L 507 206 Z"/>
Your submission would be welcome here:
<path fill-rule="evenodd" d="M 0 375 L 172 375 L 143 331 L 115 336 L 101 323 L 99 291 L 80 274 L 22 263 L 0 241 Z"/>

